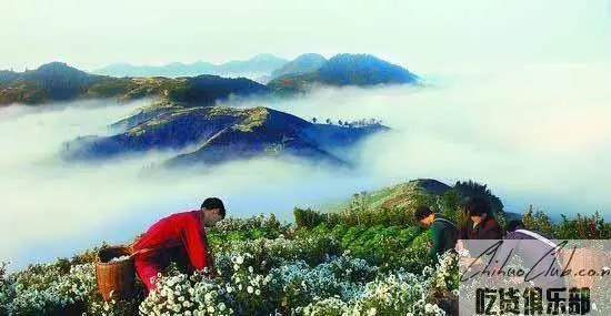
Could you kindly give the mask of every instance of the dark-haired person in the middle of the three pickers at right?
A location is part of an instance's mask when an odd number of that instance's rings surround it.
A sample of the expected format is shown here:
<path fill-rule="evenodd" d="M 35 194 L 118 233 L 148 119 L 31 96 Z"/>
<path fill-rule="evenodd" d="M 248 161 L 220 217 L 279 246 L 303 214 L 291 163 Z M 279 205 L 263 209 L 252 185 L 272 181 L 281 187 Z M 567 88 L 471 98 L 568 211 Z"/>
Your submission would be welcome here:
<path fill-rule="evenodd" d="M 483 197 L 473 197 L 465 205 L 469 220 L 460 230 L 461 239 L 500 239 L 502 238 L 501 226 L 490 215 L 490 204 Z"/>

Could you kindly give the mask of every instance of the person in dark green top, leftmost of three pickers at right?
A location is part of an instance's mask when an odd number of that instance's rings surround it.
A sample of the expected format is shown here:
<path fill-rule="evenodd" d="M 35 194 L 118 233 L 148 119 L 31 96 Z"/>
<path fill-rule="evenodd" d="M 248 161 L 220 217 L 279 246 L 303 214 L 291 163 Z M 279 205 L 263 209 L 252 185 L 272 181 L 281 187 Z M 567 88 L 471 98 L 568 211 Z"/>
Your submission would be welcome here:
<path fill-rule="evenodd" d="M 414 217 L 420 224 L 431 230 L 432 246 L 429 255 L 433 262 L 438 262 L 440 255 L 454 248 L 458 239 L 458 228 L 454 223 L 433 213 L 428 206 L 418 207 Z"/>

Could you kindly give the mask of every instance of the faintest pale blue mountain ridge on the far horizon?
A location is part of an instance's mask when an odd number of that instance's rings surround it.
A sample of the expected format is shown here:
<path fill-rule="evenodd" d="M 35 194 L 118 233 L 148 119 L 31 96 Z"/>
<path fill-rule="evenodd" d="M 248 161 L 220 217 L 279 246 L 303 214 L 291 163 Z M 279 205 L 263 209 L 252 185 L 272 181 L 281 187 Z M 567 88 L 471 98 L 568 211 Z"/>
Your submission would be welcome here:
<path fill-rule="evenodd" d="M 113 63 L 94 70 L 93 73 L 111 77 L 194 77 L 214 74 L 222 77 L 246 77 L 252 80 L 271 74 L 288 60 L 273 54 L 258 54 L 249 60 L 229 61 L 221 64 L 198 61 L 194 63 L 173 62 L 163 65 L 132 65 Z"/>

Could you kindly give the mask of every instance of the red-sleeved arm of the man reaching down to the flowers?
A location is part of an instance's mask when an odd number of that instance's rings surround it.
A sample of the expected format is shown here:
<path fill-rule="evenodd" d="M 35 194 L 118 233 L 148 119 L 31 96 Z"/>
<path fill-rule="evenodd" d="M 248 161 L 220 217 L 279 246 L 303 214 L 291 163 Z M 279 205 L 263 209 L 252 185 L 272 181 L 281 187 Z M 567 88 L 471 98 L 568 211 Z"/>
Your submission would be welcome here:
<path fill-rule="evenodd" d="M 182 244 L 187 249 L 191 265 L 196 269 L 212 268 L 213 265 L 208 255 L 208 242 L 202 230 L 197 218 L 189 218 L 184 222 L 181 231 Z"/>

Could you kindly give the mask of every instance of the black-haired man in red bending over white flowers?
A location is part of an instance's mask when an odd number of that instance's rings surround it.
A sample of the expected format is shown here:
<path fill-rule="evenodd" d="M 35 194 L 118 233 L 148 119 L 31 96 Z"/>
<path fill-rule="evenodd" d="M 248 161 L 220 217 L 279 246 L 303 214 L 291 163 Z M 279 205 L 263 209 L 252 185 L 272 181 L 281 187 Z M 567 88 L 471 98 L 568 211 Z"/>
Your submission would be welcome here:
<path fill-rule="evenodd" d="M 156 278 L 170 262 L 186 273 L 214 269 L 208 246 L 206 226 L 224 218 L 226 210 L 218 197 L 203 201 L 197 211 L 172 214 L 154 223 L 133 245 L 136 273 L 147 287 L 156 288 Z"/>

